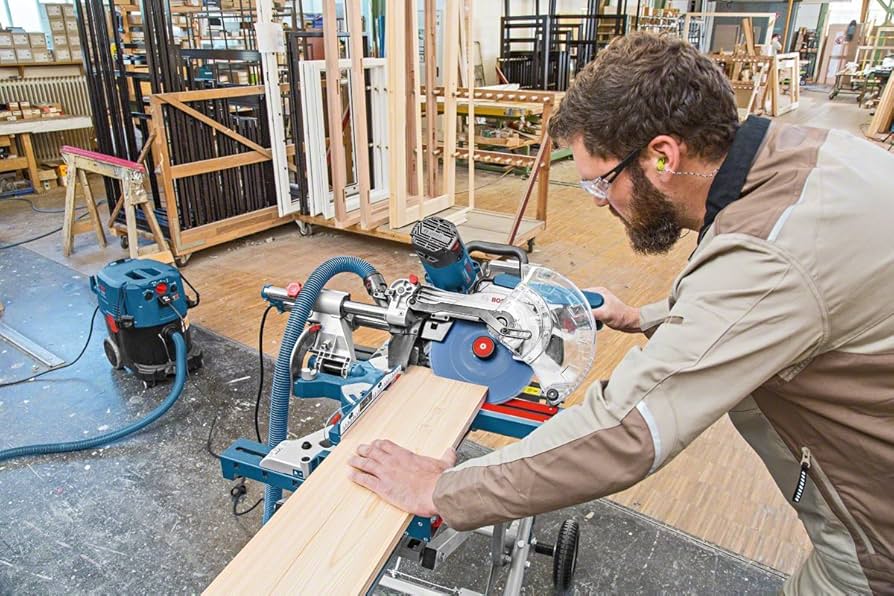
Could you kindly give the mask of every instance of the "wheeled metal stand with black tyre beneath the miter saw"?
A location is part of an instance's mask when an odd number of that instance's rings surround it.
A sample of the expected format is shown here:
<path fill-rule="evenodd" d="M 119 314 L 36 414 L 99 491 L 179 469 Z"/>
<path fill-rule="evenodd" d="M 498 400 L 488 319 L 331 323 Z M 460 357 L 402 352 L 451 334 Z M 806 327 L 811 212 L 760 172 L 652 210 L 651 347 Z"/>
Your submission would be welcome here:
<path fill-rule="evenodd" d="M 420 566 L 437 570 L 460 546 L 474 534 L 487 536 L 491 543 L 491 567 L 487 578 L 484 595 L 493 593 L 501 568 L 509 567 L 504 596 L 521 594 L 525 580 L 525 570 L 531 566 L 530 555 L 537 553 L 553 558 L 553 584 L 557 594 L 570 593 L 574 571 L 577 565 L 577 548 L 580 540 L 580 527 L 576 520 L 566 519 L 555 545 L 540 543 L 534 537 L 534 517 L 515 520 L 510 524 L 496 524 L 479 528 L 472 532 L 460 532 L 453 528 L 443 528 L 430 542 L 423 542 L 411 537 L 401 540 L 397 548 L 397 559 L 394 566 L 385 568 L 380 573 L 374 586 L 381 586 L 402 594 L 413 596 L 481 596 L 465 588 L 445 587 L 415 577 L 401 571 L 403 559 L 411 560 Z M 370 590 L 372 593 L 375 587 Z"/>

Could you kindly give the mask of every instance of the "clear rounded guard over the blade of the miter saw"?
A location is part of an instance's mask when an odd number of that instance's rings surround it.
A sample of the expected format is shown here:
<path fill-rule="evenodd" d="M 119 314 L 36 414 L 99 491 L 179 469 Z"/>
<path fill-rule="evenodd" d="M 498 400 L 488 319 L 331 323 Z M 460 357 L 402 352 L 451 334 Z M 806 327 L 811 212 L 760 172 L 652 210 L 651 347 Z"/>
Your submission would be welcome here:
<path fill-rule="evenodd" d="M 531 366 L 543 395 L 558 403 L 581 383 L 596 357 L 596 321 L 581 291 L 563 275 L 522 266 L 522 279 L 500 309 L 531 332 L 529 339 L 496 336 Z"/>

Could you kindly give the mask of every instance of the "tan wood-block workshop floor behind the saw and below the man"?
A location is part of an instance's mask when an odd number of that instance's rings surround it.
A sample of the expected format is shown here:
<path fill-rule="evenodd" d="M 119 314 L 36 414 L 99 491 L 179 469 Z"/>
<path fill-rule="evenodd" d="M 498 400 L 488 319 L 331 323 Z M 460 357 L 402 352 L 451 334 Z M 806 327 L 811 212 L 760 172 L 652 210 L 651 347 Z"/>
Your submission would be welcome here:
<path fill-rule="evenodd" d="M 801 97 L 800 109 L 783 116 L 782 121 L 837 127 L 859 135 L 860 127 L 869 119 L 868 113 L 849 98 L 829 102 L 824 94 L 809 91 L 802 92 Z M 463 188 L 462 173 L 458 178 L 458 187 Z M 477 202 L 486 209 L 511 211 L 524 185 L 518 178 L 499 179 L 482 172 L 476 178 Z M 537 240 L 532 260 L 565 273 L 582 287 L 606 286 L 630 303 L 663 298 L 694 246 L 694 234 L 667 256 L 635 255 L 620 224 L 607 210 L 595 209 L 576 188 L 577 176 L 570 162 L 555 164 L 551 178 L 556 184 L 550 187 L 548 226 Z M 94 192 L 102 196 L 101 185 L 94 184 Z M 61 206 L 61 196 L 57 190 L 30 198 L 46 208 Z M 14 242 L 60 226 L 61 215 L 37 214 L 24 202 L 0 201 L 0 221 L 0 242 Z M 27 246 L 82 274 L 125 256 L 117 244 L 99 249 L 91 235 L 78 237 L 76 252 L 68 259 L 61 255 L 58 234 Z M 304 238 L 294 227 L 284 226 L 192 258 L 184 272 L 204 292 L 202 306 L 194 311 L 192 319 L 220 335 L 254 346 L 264 308 L 259 289 L 266 283 L 284 285 L 304 279 L 320 262 L 340 254 L 371 261 L 389 279 L 419 269 L 405 245 L 323 229 Z M 0 262 L 10 258 L 9 254 L 0 254 Z M 351 279 L 338 279 L 334 285 L 355 296 L 364 295 Z M 0 299 L 6 301 L 6 288 L 0 292 Z M 270 319 L 264 350 L 275 355 L 285 318 Z M 375 337 L 370 334 L 364 339 L 372 342 Z M 611 331 L 601 333 L 592 378 L 607 378 L 623 355 L 642 341 Z M 580 393 L 571 401 L 578 400 Z M 491 447 L 500 444 L 496 437 L 476 435 L 474 439 Z M 785 497 L 726 417 L 661 472 L 612 500 L 783 573 L 796 569 L 809 552 L 803 528 Z"/>

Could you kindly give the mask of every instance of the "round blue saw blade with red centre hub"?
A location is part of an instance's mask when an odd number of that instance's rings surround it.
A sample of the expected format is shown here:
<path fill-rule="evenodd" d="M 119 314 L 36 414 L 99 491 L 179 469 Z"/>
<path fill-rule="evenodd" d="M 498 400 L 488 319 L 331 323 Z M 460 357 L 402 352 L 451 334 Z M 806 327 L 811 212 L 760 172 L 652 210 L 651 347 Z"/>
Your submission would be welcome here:
<path fill-rule="evenodd" d="M 496 344 L 492 356 L 476 356 L 472 347 L 479 337 L 489 337 L 487 327 L 480 323 L 454 321 L 444 341 L 431 342 L 429 360 L 439 377 L 456 379 L 487 387 L 487 401 L 501 404 L 521 393 L 534 371 L 524 362 L 512 357 L 509 348 Z"/>

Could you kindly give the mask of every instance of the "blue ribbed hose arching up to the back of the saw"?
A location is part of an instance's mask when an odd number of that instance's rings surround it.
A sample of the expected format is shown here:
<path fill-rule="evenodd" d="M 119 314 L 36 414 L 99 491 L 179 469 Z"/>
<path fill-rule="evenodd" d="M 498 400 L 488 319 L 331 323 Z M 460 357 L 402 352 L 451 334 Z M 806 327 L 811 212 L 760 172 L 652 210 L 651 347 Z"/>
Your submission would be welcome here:
<path fill-rule="evenodd" d="M 270 426 L 267 431 L 267 445 L 276 447 L 286 438 L 289 424 L 289 399 L 292 395 L 290 361 L 295 343 L 304 331 L 307 317 L 310 316 L 323 286 L 339 273 L 356 273 L 361 278 L 375 275 L 376 269 L 357 257 L 335 257 L 317 267 L 295 300 L 282 342 L 279 345 L 279 356 L 273 373 L 273 391 L 270 395 Z M 264 489 L 264 523 L 273 515 L 276 503 L 282 498 L 282 489 L 267 486 Z"/>

